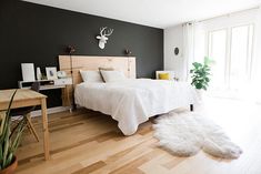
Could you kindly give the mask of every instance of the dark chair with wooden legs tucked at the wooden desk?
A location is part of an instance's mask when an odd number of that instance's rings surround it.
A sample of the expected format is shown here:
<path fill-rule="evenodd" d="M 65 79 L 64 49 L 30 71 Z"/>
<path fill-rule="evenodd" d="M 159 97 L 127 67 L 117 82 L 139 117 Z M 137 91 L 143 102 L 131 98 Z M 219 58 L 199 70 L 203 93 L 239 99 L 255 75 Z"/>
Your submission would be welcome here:
<path fill-rule="evenodd" d="M 39 90 L 40 90 L 40 82 L 33 82 L 32 85 L 31 85 L 31 90 L 33 90 L 36 92 L 39 92 Z M 19 116 L 19 115 L 24 116 L 24 119 L 27 121 L 27 127 L 33 134 L 36 140 L 39 142 L 39 136 L 37 134 L 36 129 L 33 127 L 32 122 L 31 122 L 31 112 L 34 111 L 34 110 L 36 110 L 36 106 L 13 109 L 13 110 L 11 110 L 10 115 L 11 116 Z"/>

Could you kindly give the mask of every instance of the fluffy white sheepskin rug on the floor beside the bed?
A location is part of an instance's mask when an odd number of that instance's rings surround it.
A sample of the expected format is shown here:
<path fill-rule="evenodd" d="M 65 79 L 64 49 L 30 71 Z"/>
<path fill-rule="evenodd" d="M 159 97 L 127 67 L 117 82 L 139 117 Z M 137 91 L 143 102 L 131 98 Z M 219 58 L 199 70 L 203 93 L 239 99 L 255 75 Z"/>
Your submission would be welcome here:
<path fill-rule="evenodd" d="M 193 112 L 171 112 L 159 116 L 153 129 L 160 146 L 173 155 L 191 156 L 200 150 L 222 158 L 238 158 L 242 150 L 231 142 L 222 129 Z"/>

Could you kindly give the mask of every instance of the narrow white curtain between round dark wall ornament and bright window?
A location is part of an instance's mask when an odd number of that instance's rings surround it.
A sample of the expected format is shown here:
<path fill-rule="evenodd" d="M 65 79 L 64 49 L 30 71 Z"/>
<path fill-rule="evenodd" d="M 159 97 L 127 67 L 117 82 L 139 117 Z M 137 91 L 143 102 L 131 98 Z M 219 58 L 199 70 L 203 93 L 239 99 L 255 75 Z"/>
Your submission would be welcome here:
<path fill-rule="evenodd" d="M 194 61 L 194 23 L 183 25 L 183 62 L 181 81 L 190 81 L 190 69 Z"/>

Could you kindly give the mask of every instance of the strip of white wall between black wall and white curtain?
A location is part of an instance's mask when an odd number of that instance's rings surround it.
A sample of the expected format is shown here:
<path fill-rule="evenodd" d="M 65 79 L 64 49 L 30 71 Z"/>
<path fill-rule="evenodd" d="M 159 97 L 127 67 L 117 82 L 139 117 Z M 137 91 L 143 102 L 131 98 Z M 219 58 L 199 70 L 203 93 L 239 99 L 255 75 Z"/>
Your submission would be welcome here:
<path fill-rule="evenodd" d="M 180 49 L 180 55 L 174 55 L 174 48 Z M 175 78 L 182 75 L 183 31 L 182 25 L 164 29 L 164 70 L 172 70 Z"/>

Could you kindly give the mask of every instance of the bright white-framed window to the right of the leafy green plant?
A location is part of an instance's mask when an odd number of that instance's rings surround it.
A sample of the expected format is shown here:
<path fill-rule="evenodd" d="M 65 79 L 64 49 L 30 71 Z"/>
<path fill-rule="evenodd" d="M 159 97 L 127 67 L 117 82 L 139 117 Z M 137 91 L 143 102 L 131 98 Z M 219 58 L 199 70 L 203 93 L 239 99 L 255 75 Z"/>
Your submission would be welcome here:
<path fill-rule="evenodd" d="M 212 89 L 238 91 L 251 78 L 253 24 L 209 32 L 208 52 L 214 60 Z"/>

